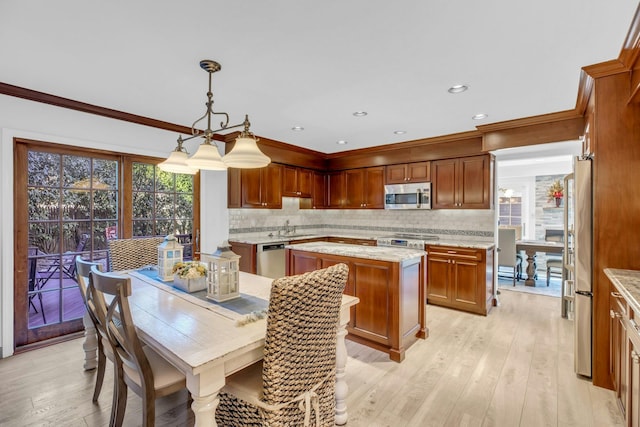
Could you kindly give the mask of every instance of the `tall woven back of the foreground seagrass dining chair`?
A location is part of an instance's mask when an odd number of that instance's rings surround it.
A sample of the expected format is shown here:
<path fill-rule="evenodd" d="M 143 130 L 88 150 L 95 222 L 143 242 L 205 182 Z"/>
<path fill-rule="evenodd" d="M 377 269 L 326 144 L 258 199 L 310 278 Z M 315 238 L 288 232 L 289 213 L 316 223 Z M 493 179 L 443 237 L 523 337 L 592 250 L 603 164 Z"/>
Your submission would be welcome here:
<path fill-rule="evenodd" d="M 322 382 L 316 390 L 320 419 L 334 425 L 337 325 L 348 274 L 345 264 L 337 264 L 273 282 L 262 371 L 265 403 L 289 402 Z M 264 415 L 265 425 L 302 425 L 304 418 L 297 404 Z"/>

